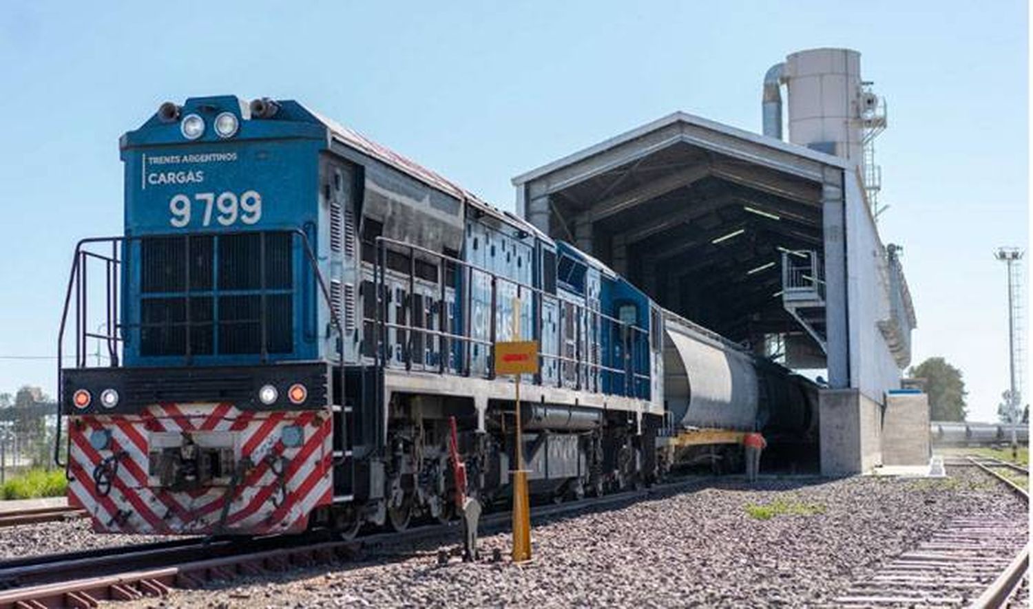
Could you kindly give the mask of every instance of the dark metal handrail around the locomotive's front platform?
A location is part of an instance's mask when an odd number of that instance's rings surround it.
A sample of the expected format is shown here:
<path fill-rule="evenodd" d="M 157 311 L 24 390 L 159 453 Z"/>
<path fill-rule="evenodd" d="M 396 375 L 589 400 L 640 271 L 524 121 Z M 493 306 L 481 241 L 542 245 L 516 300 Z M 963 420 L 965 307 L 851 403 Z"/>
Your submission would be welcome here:
<path fill-rule="evenodd" d="M 71 269 L 70 269 L 70 271 L 68 274 L 68 284 L 67 284 L 67 287 L 66 287 L 66 290 L 65 290 L 65 300 L 64 300 L 64 307 L 63 307 L 62 313 L 61 313 L 61 323 L 59 324 L 59 327 L 58 327 L 58 371 L 57 371 L 57 381 L 58 381 L 58 387 L 57 387 L 57 405 L 58 405 L 58 409 L 57 409 L 57 411 L 58 412 L 57 412 L 57 429 L 56 429 L 55 442 L 54 442 L 54 461 L 59 467 L 67 468 L 67 464 L 61 461 L 61 423 L 62 423 L 62 421 L 61 421 L 61 418 L 62 418 L 61 413 L 62 413 L 62 408 L 64 406 L 64 395 L 63 395 L 64 383 L 62 381 L 62 371 L 63 371 L 62 361 L 63 361 L 63 358 L 64 358 L 65 330 L 67 329 L 67 325 L 68 325 L 68 314 L 69 314 L 69 309 L 71 308 L 71 304 L 72 304 L 71 297 L 72 297 L 73 290 L 74 290 L 75 297 L 76 297 L 76 300 L 75 300 L 75 367 L 87 367 L 87 361 L 86 361 L 86 359 L 87 359 L 88 354 L 86 353 L 86 348 L 87 348 L 87 339 L 89 339 L 89 338 L 94 338 L 94 339 L 96 339 L 98 341 L 105 341 L 106 342 L 107 348 L 108 348 L 108 358 L 109 358 L 109 361 L 111 361 L 111 365 L 113 367 L 117 367 L 117 366 L 120 365 L 119 355 L 118 355 L 118 344 L 125 342 L 125 339 L 121 334 L 121 332 L 125 328 L 128 328 L 128 327 L 131 327 L 131 326 L 144 327 L 145 325 L 148 325 L 148 324 L 143 324 L 143 323 L 139 323 L 139 324 L 124 324 L 119 319 L 119 315 L 120 315 L 120 307 L 119 307 L 119 304 L 120 304 L 120 302 L 119 302 L 119 282 L 121 281 L 120 269 L 121 269 L 121 264 L 123 263 L 124 256 L 125 256 L 125 252 L 122 252 L 122 254 L 123 254 L 122 257 L 119 256 L 119 248 L 120 248 L 120 246 L 122 246 L 123 249 L 124 249 L 125 244 L 128 243 L 128 242 L 142 241 L 142 239 L 150 238 L 150 237 L 184 236 L 184 237 L 186 237 L 186 238 L 189 239 L 191 237 L 210 236 L 210 235 L 261 234 L 262 235 L 262 238 L 261 238 L 262 254 L 264 254 L 264 241 L 265 241 L 264 239 L 264 235 L 268 234 L 268 233 L 270 233 L 270 232 L 289 233 L 291 235 L 299 236 L 300 239 L 301 239 L 302 249 L 305 252 L 306 260 L 309 263 L 309 268 L 313 273 L 313 276 L 314 276 L 314 278 L 315 278 L 315 280 L 316 280 L 316 282 L 317 282 L 317 284 L 319 286 L 319 291 L 322 294 L 322 298 L 323 298 L 323 300 L 324 300 L 324 302 L 326 304 L 327 311 L 330 312 L 331 326 L 333 327 L 333 329 L 336 331 L 336 334 L 337 334 L 337 341 L 335 342 L 335 347 L 336 347 L 336 351 L 337 351 L 337 363 L 339 365 L 339 373 L 340 373 L 340 395 L 342 397 L 344 396 L 344 393 L 345 393 L 344 329 L 342 327 L 341 320 L 339 319 L 339 317 L 341 315 L 343 315 L 343 312 L 335 310 L 335 307 L 333 304 L 333 298 L 331 296 L 330 289 L 327 288 L 326 281 L 325 281 L 325 279 L 322 276 L 322 271 L 319 269 L 318 258 L 316 257 L 315 252 L 312 249 L 312 244 L 309 241 L 308 234 L 306 234 L 304 230 L 302 230 L 300 228 L 290 228 L 290 229 L 276 229 L 276 230 L 244 230 L 244 231 L 233 231 L 233 232 L 195 231 L 195 232 L 190 232 L 190 233 L 186 233 L 186 234 L 182 234 L 182 235 L 176 234 L 176 233 L 173 233 L 173 234 L 164 233 L 164 234 L 146 234 L 146 235 L 133 235 L 133 236 L 119 235 L 119 236 L 104 236 L 104 237 L 88 237 L 88 238 L 80 239 L 79 243 L 75 244 L 75 252 L 74 252 L 74 254 L 72 256 L 72 265 L 71 265 Z M 85 249 L 85 248 L 87 248 L 87 247 L 89 247 L 89 246 L 91 246 L 93 244 L 100 244 L 100 243 L 109 243 L 112 245 L 112 255 L 109 257 L 105 256 L 105 255 L 102 255 L 102 254 L 98 254 L 98 253 L 96 253 L 94 251 L 90 251 L 90 250 L 86 250 Z M 91 331 L 89 331 L 87 329 L 87 323 L 88 323 L 88 317 L 87 317 L 87 314 L 88 314 L 88 301 L 89 301 L 89 298 L 90 298 L 90 294 L 89 294 L 89 289 L 88 289 L 89 284 L 87 283 L 88 273 L 87 273 L 87 263 L 86 263 L 86 261 L 89 258 L 96 258 L 96 259 L 103 260 L 104 263 L 105 263 L 105 265 L 106 265 L 106 269 L 105 269 L 106 283 L 105 283 L 105 290 L 104 290 L 105 298 L 106 298 L 106 307 L 105 307 L 106 321 L 104 322 L 103 325 L 106 326 L 106 328 L 107 328 L 107 332 L 108 332 L 107 334 L 100 334 L 100 333 L 97 333 L 97 332 L 91 332 Z M 265 286 L 265 256 L 262 255 L 262 256 L 260 256 L 260 258 L 261 258 L 261 261 L 260 261 L 260 265 L 261 265 L 261 268 L 260 268 L 261 287 L 264 288 L 264 286 Z M 187 267 L 187 274 L 188 275 L 187 275 L 187 278 L 186 278 L 186 289 L 185 289 L 185 292 L 184 292 L 184 296 L 185 297 L 189 297 L 191 295 L 190 279 L 189 279 L 189 266 L 190 266 L 189 264 L 186 265 L 186 267 Z M 260 311 L 259 320 L 258 320 L 259 321 L 259 325 L 260 325 L 259 331 L 260 331 L 260 342 L 261 342 L 261 345 L 260 345 L 259 349 L 260 349 L 261 360 L 265 361 L 265 359 L 268 358 L 267 340 L 265 340 L 267 335 L 268 335 L 268 328 L 267 328 L 268 315 L 265 315 L 267 310 L 265 310 L 265 298 L 264 298 L 264 296 L 265 296 L 265 290 L 264 289 L 260 289 L 259 296 L 261 297 L 261 300 L 262 300 L 262 302 L 261 302 L 261 311 Z M 335 311 L 336 311 L 336 314 L 335 314 Z M 190 321 L 190 317 L 189 317 L 189 315 L 190 315 L 189 312 L 190 312 L 190 307 L 189 307 L 189 303 L 188 303 L 187 307 L 186 307 L 186 316 L 187 317 L 186 317 L 186 321 L 185 322 L 173 322 L 173 323 L 157 324 L 157 325 L 169 326 L 169 327 L 170 326 L 184 325 L 186 327 L 186 331 L 185 331 L 185 333 L 186 333 L 186 336 L 185 336 L 185 340 L 186 340 L 185 353 L 186 353 L 186 358 L 187 358 L 188 361 L 189 361 L 189 358 L 190 358 L 190 347 L 191 347 L 190 326 L 192 325 L 191 321 Z M 251 323 L 253 323 L 254 320 L 234 320 L 234 322 L 240 322 L 240 323 L 251 322 Z M 224 322 L 220 322 L 220 323 L 224 323 Z M 98 332 L 99 332 L 99 330 L 98 330 Z M 331 387 L 331 394 L 333 394 L 333 387 Z"/>

